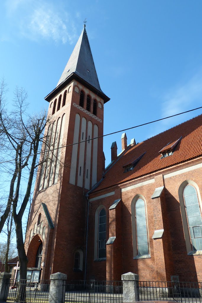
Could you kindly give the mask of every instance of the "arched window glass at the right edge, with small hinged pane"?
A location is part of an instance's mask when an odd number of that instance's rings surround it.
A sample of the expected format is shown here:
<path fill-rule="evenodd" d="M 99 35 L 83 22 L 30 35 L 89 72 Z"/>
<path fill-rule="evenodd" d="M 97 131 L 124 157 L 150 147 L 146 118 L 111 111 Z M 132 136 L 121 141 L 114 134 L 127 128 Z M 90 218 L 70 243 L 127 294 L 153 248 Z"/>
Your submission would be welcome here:
<path fill-rule="evenodd" d="M 193 251 L 202 250 L 202 220 L 194 186 L 188 184 L 183 196 Z"/>

